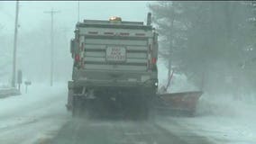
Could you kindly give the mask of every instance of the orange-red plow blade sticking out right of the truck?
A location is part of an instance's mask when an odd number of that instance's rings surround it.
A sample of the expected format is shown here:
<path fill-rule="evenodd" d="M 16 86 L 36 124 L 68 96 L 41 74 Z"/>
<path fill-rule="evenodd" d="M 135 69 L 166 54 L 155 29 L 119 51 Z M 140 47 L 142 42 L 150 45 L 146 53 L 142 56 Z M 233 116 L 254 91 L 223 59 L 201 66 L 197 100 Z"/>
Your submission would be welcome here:
<path fill-rule="evenodd" d="M 193 115 L 196 112 L 197 101 L 202 94 L 202 91 L 159 94 L 160 105 L 158 109 Z"/>

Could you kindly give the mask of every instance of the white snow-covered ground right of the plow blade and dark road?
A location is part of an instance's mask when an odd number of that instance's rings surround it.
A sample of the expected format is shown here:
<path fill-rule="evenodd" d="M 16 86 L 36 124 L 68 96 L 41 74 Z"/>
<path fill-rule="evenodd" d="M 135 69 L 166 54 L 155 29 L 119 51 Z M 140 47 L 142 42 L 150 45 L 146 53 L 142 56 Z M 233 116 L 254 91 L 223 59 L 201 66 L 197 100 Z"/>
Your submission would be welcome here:
<path fill-rule="evenodd" d="M 175 130 L 178 135 L 182 136 L 184 132 L 193 131 L 214 143 L 256 144 L 255 110 L 255 103 L 199 102 L 197 116 L 168 117 L 158 121 L 158 124 L 171 131 L 179 125 L 184 130 L 179 128 Z"/>

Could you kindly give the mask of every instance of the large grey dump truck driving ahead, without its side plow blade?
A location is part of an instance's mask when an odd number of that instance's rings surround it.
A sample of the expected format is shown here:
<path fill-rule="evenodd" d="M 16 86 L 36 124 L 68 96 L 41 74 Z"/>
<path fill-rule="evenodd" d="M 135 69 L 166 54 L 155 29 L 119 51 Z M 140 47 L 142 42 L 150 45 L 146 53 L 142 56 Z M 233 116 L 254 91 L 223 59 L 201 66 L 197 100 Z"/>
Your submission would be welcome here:
<path fill-rule="evenodd" d="M 158 33 L 147 23 L 84 20 L 70 40 L 74 60 L 66 107 L 73 116 L 121 113 L 147 119 L 158 90 Z M 166 94 L 165 94 L 166 97 Z"/>

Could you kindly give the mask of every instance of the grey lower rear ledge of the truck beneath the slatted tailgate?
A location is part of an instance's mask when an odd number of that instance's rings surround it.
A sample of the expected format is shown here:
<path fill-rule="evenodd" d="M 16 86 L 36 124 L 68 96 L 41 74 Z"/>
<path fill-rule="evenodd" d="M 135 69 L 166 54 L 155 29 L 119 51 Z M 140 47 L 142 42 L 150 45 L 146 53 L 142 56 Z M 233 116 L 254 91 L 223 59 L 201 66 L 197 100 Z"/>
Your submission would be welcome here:
<path fill-rule="evenodd" d="M 78 70 L 69 87 L 155 87 L 158 85 L 157 71 L 104 71 Z"/>

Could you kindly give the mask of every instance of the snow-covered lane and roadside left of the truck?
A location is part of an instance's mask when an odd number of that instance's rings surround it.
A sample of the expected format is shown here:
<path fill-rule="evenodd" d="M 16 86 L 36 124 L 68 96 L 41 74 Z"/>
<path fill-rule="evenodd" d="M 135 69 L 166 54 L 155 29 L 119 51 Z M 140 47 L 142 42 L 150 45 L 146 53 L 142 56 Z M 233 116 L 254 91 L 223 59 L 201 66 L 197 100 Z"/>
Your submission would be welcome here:
<path fill-rule="evenodd" d="M 22 88 L 22 95 L 0 100 L 0 143 L 33 143 L 52 135 L 69 119 L 67 83 L 32 84 L 27 94 Z"/>

